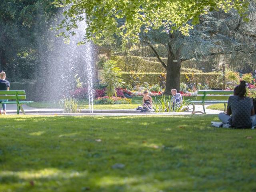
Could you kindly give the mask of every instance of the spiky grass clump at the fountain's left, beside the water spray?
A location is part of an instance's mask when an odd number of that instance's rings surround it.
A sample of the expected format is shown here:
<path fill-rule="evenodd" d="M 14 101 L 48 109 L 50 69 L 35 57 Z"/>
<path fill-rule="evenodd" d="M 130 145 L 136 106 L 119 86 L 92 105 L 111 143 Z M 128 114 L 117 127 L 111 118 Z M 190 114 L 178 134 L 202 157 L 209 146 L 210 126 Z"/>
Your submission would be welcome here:
<path fill-rule="evenodd" d="M 75 98 L 63 96 L 63 99 L 59 100 L 59 103 L 64 113 L 81 112 L 81 108 L 78 106 L 78 100 Z"/>

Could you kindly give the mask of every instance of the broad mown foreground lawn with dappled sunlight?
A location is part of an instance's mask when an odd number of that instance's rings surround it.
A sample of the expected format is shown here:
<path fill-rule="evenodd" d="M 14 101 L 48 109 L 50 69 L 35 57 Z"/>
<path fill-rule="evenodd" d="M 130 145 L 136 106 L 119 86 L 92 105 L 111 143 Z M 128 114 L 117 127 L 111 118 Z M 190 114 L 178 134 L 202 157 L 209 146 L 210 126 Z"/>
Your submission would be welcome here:
<path fill-rule="evenodd" d="M 0 118 L 1 192 L 256 191 L 256 131 L 216 115 Z"/>

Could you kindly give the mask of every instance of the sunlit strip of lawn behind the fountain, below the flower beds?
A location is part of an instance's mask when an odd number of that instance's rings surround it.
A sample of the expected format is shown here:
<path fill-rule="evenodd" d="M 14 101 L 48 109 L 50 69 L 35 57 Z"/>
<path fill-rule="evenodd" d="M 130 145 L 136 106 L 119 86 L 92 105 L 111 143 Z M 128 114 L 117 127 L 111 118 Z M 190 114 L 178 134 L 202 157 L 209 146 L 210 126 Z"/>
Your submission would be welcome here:
<path fill-rule="evenodd" d="M 162 96 L 152 97 L 154 100 Z M 194 97 L 185 97 L 184 100 L 194 99 Z M 142 97 L 133 97 L 132 104 L 115 104 L 115 105 L 94 105 L 94 109 L 135 109 L 142 104 Z M 89 109 L 88 100 L 79 100 L 79 105 L 82 109 Z M 28 104 L 30 107 L 36 108 L 60 108 L 59 102 L 56 101 L 42 101 Z"/>

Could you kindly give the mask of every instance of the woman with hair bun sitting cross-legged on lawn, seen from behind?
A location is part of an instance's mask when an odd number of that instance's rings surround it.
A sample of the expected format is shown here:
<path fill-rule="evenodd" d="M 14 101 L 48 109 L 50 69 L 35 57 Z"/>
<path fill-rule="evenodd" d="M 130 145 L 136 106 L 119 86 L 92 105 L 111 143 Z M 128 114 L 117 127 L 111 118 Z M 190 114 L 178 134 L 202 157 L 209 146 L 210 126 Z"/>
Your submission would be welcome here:
<path fill-rule="evenodd" d="M 246 95 L 246 82 L 241 81 L 234 89 L 234 96 L 228 99 L 227 114 L 218 115 L 224 124 L 230 124 L 235 128 L 251 128 L 256 125 L 252 99 Z"/>

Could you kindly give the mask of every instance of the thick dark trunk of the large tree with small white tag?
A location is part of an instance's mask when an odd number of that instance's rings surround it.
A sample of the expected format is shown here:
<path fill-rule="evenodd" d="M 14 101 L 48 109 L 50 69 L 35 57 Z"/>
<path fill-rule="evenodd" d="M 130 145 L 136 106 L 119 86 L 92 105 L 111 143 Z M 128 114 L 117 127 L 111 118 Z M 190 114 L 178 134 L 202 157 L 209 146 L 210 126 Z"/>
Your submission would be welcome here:
<path fill-rule="evenodd" d="M 172 89 L 180 91 L 180 71 L 181 71 L 181 60 L 180 51 L 175 54 L 172 52 L 172 47 L 168 45 L 168 58 L 166 67 L 166 86 L 164 94 L 170 95 Z"/>

